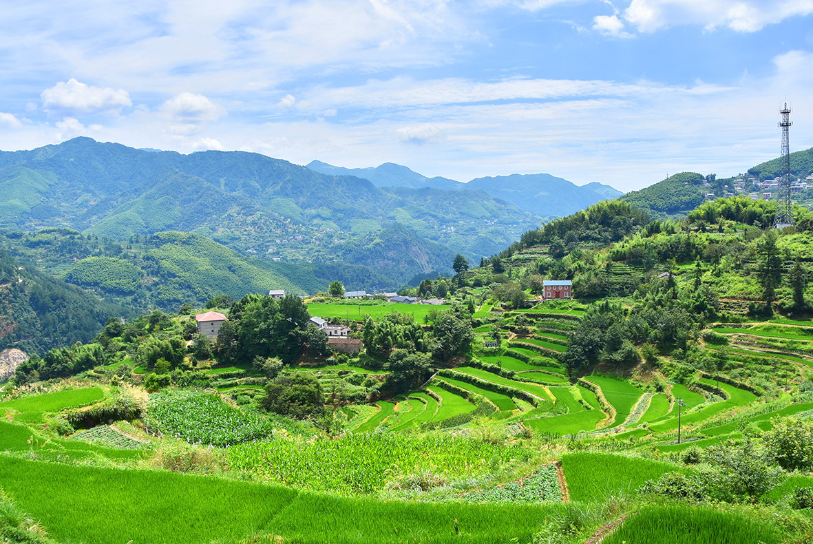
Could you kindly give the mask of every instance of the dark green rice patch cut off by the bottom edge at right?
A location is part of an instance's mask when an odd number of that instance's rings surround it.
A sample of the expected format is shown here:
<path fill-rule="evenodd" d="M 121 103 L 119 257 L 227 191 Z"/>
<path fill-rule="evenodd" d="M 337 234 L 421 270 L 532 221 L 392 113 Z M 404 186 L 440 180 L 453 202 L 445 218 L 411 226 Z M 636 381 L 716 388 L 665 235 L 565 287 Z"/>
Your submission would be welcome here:
<path fill-rule="evenodd" d="M 774 527 L 737 512 L 685 505 L 649 506 L 630 516 L 603 544 L 773 544 Z"/>

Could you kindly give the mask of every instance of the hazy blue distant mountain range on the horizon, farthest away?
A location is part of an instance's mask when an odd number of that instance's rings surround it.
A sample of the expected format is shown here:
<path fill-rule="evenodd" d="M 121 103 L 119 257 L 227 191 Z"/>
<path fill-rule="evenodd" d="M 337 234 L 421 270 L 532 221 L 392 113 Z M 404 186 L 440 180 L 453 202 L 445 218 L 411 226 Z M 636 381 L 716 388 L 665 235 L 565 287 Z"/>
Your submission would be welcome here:
<path fill-rule="evenodd" d="M 576 185 L 550 174 L 478 177 L 468 183 L 462 183 L 446 177 L 423 176 L 395 163 L 384 163 L 375 168 L 342 168 L 315 160 L 309 163 L 307 168 L 333 176 L 360 177 L 371 181 L 376 187 L 412 189 L 429 187 L 453 191 L 480 189 L 494 198 L 500 198 L 546 219 L 570 215 L 596 202 L 618 198 L 624 194 L 610 185 L 595 181 L 587 185 Z"/>

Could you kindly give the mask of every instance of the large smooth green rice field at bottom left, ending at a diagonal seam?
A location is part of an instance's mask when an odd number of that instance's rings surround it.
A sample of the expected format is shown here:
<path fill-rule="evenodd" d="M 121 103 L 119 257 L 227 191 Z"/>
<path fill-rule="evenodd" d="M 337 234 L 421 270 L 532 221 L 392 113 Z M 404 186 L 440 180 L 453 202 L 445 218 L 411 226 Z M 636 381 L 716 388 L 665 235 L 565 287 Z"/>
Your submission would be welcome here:
<path fill-rule="evenodd" d="M 200 544 L 238 537 L 263 527 L 296 497 L 293 490 L 267 485 L 4 456 L 0 485 L 51 537 L 85 544 Z"/>

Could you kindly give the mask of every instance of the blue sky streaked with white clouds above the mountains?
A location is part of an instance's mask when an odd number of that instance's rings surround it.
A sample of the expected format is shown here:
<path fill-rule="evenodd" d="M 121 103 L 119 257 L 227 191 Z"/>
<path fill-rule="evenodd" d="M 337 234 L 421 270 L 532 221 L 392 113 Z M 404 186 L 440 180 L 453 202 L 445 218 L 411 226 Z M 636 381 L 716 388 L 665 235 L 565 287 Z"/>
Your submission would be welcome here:
<path fill-rule="evenodd" d="M 89 136 L 640 189 L 813 146 L 813 0 L 4 2 L 0 149 Z"/>

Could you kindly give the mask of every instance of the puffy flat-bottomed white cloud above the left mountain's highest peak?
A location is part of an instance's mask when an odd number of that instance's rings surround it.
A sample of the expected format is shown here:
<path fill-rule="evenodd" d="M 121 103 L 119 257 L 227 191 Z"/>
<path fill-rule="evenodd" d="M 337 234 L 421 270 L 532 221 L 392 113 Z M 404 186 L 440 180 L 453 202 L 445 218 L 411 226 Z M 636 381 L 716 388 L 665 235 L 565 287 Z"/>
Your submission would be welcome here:
<path fill-rule="evenodd" d="M 93 87 L 75 79 L 60 81 L 40 94 L 42 107 L 47 111 L 78 111 L 100 113 L 121 111 L 122 107 L 133 106 L 130 95 L 124 89 Z"/>

